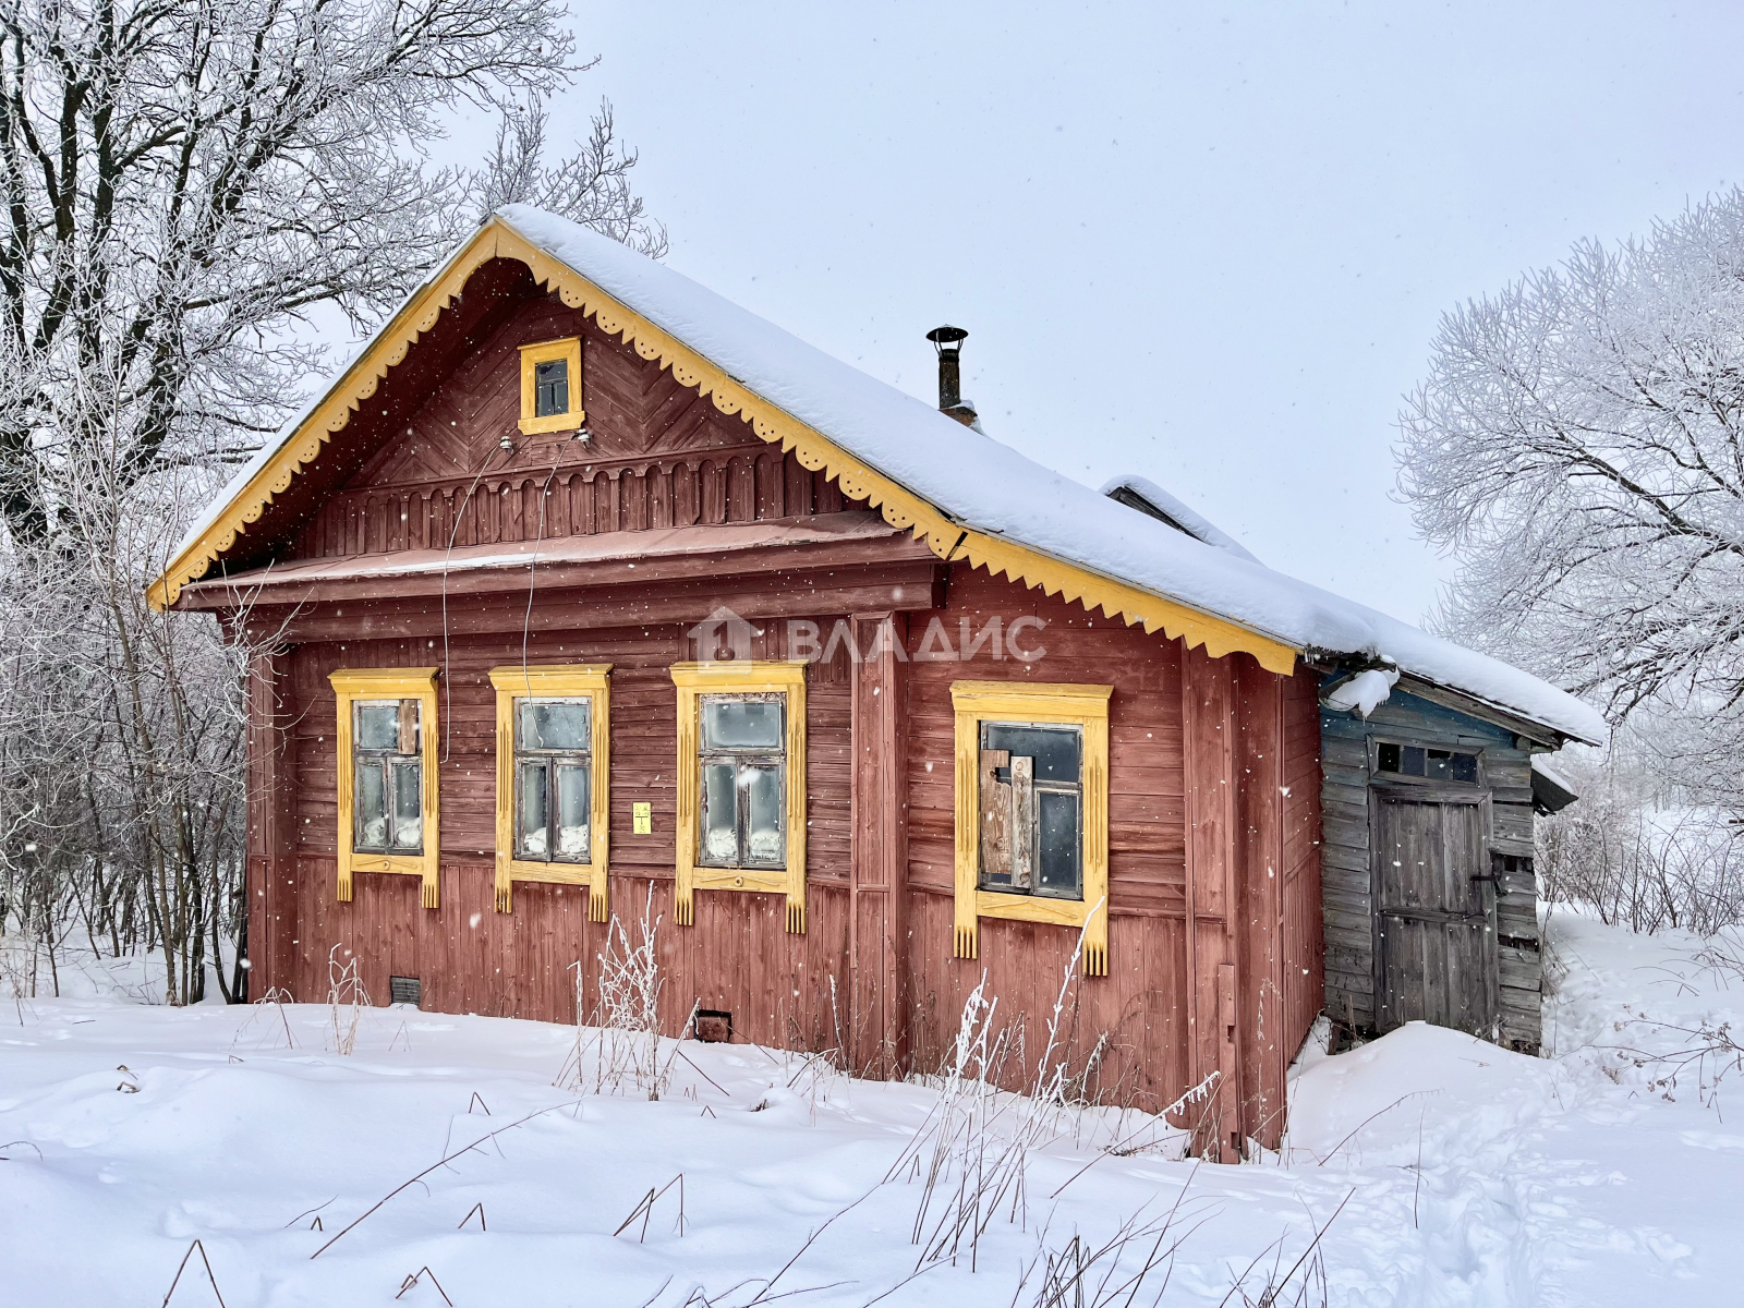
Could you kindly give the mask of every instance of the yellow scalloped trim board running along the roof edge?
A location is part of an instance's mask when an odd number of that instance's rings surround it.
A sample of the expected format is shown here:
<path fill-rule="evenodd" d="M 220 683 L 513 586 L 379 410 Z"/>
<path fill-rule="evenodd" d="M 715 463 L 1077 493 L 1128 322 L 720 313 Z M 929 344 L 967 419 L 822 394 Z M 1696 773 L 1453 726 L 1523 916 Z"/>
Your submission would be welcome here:
<path fill-rule="evenodd" d="M 589 314 L 602 331 L 623 337 L 624 342 L 635 345 L 637 354 L 644 359 L 657 359 L 661 368 L 670 368 L 682 385 L 692 385 L 699 394 L 710 396 L 722 413 L 738 413 L 752 424 L 752 429 L 764 441 L 794 450 L 804 467 L 825 469 L 827 476 L 841 483 L 846 495 L 865 497 L 869 504 L 882 511 L 884 521 L 924 539 L 940 558 L 968 560 L 971 567 L 987 569 L 996 576 L 1005 574 L 1031 589 L 1039 588 L 1046 595 L 1059 595 L 1092 612 L 1100 609 L 1109 617 L 1123 619 L 1128 626 L 1142 626 L 1146 633 L 1160 630 L 1165 637 L 1181 638 L 1189 647 L 1205 645 L 1205 652 L 1212 657 L 1245 651 L 1263 668 L 1282 677 L 1289 677 L 1296 670 L 1296 649 L 1282 640 L 1226 617 L 1191 609 L 1177 600 L 1104 577 L 1092 569 L 1052 558 L 1015 541 L 964 530 L 919 495 L 853 459 L 816 429 L 745 389 L 726 370 L 684 345 L 677 337 L 626 309 L 579 272 L 541 251 L 502 218 L 492 218 L 485 223 L 478 235 L 448 260 L 436 279 L 394 314 L 392 321 L 377 335 L 375 345 L 352 364 L 328 398 L 298 426 L 284 448 L 249 478 L 213 525 L 171 562 L 162 577 L 152 582 L 148 596 L 153 607 L 167 609 L 173 605 L 188 581 L 204 576 L 206 569 L 248 528 L 248 523 L 260 520 L 272 497 L 291 483 L 291 476 L 314 462 L 321 443 L 344 427 L 358 405 L 375 394 L 387 370 L 406 358 L 412 344 L 459 295 L 473 270 L 492 258 L 516 258 L 525 263 L 532 269 L 535 281 L 553 286 L 569 307 Z"/>

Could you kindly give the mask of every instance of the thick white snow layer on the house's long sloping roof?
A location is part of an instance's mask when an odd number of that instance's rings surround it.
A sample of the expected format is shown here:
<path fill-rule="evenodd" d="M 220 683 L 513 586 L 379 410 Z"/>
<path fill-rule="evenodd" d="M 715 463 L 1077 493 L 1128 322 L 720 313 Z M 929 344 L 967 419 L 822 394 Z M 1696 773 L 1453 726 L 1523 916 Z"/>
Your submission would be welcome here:
<path fill-rule="evenodd" d="M 1566 736 L 1601 741 L 1606 734 L 1592 706 L 1531 673 L 1275 572 L 1243 558 L 1240 546 L 1207 544 L 1135 513 L 617 241 L 520 204 L 501 209 L 497 221 L 963 528 L 1020 542 L 1299 652 L 1390 659 Z M 277 445 L 296 429 L 288 424 Z M 262 452 L 220 504 L 270 460 L 272 450 Z M 202 530 L 215 520 L 208 516 Z"/>

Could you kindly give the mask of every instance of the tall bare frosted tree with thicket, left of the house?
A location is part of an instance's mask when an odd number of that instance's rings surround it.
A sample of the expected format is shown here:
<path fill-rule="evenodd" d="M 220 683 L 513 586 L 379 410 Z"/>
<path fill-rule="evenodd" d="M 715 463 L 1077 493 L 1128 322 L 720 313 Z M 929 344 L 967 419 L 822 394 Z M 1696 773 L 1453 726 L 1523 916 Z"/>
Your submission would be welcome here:
<path fill-rule="evenodd" d="M 558 0 L 0 0 L 0 931 L 155 947 L 195 1001 L 242 930 L 239 677 L 143 586 L 228 469 L 490 206 L 651 253 Z M 446 117 L 501 113 L 476 169 Z M 33 944 L 35 949 L 35 944 Z M 232 950 L 239 954 L 241 950 Z M 227 998 L 244 973 L 220 973 Z"/>

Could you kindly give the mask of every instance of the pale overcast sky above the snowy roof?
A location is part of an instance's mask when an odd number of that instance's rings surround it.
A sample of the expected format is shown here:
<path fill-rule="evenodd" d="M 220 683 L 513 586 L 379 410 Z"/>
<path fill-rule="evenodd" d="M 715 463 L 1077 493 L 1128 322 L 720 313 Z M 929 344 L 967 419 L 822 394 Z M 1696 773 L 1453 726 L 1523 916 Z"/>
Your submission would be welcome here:
<path fill-rule="evenodd" d="M 1439 314 L 1744 180 L 1744 5 L 1210 10 L 576 0 L 558 129 L 614 101 L 680 272 L 924 399 L 964 326 L 998 439 L 1420 621 Z"/>

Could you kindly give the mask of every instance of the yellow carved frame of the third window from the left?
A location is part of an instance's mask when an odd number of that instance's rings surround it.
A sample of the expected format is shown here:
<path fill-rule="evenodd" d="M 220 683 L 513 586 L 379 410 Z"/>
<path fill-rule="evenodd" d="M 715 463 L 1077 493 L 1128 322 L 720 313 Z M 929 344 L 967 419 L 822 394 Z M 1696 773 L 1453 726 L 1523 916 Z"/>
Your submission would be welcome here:
<path fill-rule="evenodd" d="M 678 691 L 677 909 L 680 926 L 696 923 L 698 889 L 748 889 L 787 895 L 787 930 L 806 933 L 806 663 L 675 663 Z M 698 698 L 703 694 L 787 694 L 787 867 L 698 867 Z"/>

